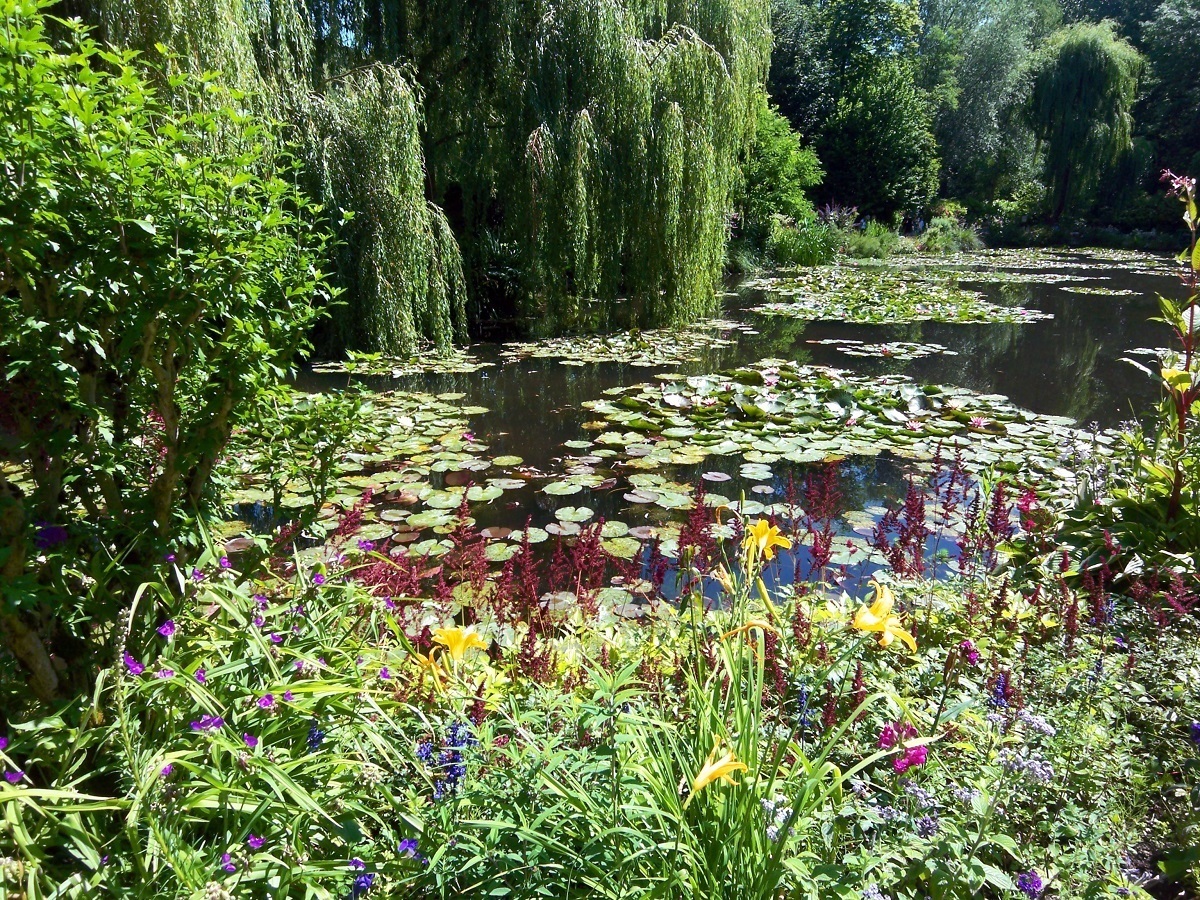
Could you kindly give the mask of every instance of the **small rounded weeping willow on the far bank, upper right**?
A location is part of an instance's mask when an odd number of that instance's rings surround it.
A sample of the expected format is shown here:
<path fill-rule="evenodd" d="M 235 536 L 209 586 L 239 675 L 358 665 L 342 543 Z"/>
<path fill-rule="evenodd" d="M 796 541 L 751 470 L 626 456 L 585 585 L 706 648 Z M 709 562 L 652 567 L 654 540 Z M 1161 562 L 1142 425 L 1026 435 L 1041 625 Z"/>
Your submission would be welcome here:
<path fill-rule="evenodd" d="M 1040 52 L 1028 115 L 1045 154 L 1051 221 L 1129 149 L 1142 67 L 1111 22 L 1064 28 Z"/>

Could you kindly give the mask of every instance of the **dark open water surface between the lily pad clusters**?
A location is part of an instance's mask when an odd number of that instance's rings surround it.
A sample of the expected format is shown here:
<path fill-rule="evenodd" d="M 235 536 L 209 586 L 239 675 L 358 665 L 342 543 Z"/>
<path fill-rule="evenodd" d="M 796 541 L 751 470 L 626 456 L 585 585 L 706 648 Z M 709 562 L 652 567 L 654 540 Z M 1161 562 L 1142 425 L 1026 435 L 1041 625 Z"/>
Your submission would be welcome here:
<path fill-rule="evenodd" d="M 1042 274 L 1064 274 L 1080 280 L 1067 282 L 972 283 L 964 269 L 960 282 L 982 290 L 989 300 L 1002 305 L 1020 305 L 1052 313 L 1054 318 L 1022 324 L 946 324 L 914 323 L 901 325 L 852 325 L 840 322 L 803 322 L 766 317 L 746 307 L 762 302 L 760 292 L 731 290 L 725 298 L 725 319 L 742 323 L 750 330 L 731 330 L 725 337 L 732 346 L 707 348 L 697 359 L 683 366 L 647 368 L 619 362 L 565 366 L 557 359 L 500 360 L 498 344 L 476 344 L 470 352 L 494 366 L 466 374 L 427 374 L 400 379 L 362 378 L 374 389 L 396 388 L 440 394 L 462 392 L 464 406 L 488 409 L 470 419 L 478 439 L 488 445 L 488 455 L 515 455 L 526 466 L 546 473 L 562 472 L 570 464 L 572 451 L 566 440 L 587 439 L 594 432 L 583 427 L 594 419 L 582 407 L 586 401 L 604 396 L 604 391 L 652 380 L 659 372 L 701 374 L 780 358 L 845 368 L 863 374 L 906 374 L 922 384 L 967 388 L 983 394 L 1002 394 L 1018 406 L 1034 413 L 1061 415 L 1080 425 L 1112 427 L 1145 415 L 1158 400 L 1158 386 L 1121 358 L 1130 349 L 1163 347 L 1168 329 L 1150 319 L 1158 312 L 1156 295 L 1181 296 L 1182 287 L 1169 269 L 1152 272 L 1130 271 L 1136 263 L 1116 268 L 1111 263 L 1090 262 L 1084 256 L 1064 256 L 1067 263 L 1088 262 L 1086 268 L 1056 269 L 1048 265 Z M 978 266 L 972 266 L 978 268 Z M 997 266 L 1003 269 L 1003 266 Z M 1021 275 L 1034 270 L 1021 269 Z M 1070 293 L 1069 287 L 1102 287 L 1138 292 L 1135 295 L 1108 296 Z M 918 360 L 859 358 L 840 353 L 834 346 L 815 344 L 826 338 L 863 342 L 910 341 L 943 344 L 956 355 L 937 354 Z M 299 386 L 322 390 L 347 384 L 347 376 L 306 373 Z M 566 462 L 564 463 L 564 460 Z M 704 470 L 725 470 L 733 480 L 713 485 L 712 490 L 728 497 L 744 493 L 766 503 L 781 499 L 787 480 L 803 476 L 802 467 L 788 463 L 772 466 L 772 488 L 738 478 L 739 457 L 712 457 L 703 467 L 662 472 L 678 481 L 696 484 Z M 846 509 L 865 509 L 894 504 L 902 492 L 904 468 L 887 455 L 853 458 L 841 467 L 840 485 Z M 480 526 L 520 527 L 526 517 L 535 526 L 553 522 L 554 509 L 587 505 L 608 520 L 629 526 L 655 524 L 679 515 L 648 506 L 630 506 L 622 498 L 630 490 L 624 479 L 612 488 L 586 490 L 571 497 L 550 497 L 538 490 L 544 482 L 530 482 L 521 491 L 506 492 L 500 502 L 473 510 Z M 844 534 L 852 534 L 844 526 Z"/>

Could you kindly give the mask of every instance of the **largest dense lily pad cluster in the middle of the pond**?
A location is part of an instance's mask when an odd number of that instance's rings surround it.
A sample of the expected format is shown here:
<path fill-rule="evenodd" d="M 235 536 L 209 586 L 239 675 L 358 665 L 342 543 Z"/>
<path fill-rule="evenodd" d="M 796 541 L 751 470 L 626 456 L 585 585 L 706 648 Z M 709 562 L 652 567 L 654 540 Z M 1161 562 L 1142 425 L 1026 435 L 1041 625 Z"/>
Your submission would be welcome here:
<path fill-rule="evenodd" d="M 816 463 L 890 452 L 917 461 L 960 454 L 968 469 L 994 468 L 1046 493 L 1073 490 L 1073 454 L 1110 455 L 1114 438 L 1036 415 L 1000 395 L 863 377 L 767 359 L 713 376 L 613 388 L 586 403 L 601 419 L 594 445 L 628 468 L 696 464 L 738 456 L 740 474 L 770 478 L 770 464 Z M 752 470 L 751 470 L 752 469 Z"/>

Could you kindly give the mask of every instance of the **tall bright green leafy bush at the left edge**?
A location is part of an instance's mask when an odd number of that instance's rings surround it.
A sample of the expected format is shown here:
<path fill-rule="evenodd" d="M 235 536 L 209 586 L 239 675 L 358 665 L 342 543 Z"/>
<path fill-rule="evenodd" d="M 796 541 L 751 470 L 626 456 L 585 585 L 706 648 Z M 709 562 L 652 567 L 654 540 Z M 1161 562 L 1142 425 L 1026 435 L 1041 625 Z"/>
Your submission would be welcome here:
<path fill-rule="evenodd" d="M 326 238 L 236 97 L 2 7 L 0 630 L 52 697 L 305 347 Z"/>

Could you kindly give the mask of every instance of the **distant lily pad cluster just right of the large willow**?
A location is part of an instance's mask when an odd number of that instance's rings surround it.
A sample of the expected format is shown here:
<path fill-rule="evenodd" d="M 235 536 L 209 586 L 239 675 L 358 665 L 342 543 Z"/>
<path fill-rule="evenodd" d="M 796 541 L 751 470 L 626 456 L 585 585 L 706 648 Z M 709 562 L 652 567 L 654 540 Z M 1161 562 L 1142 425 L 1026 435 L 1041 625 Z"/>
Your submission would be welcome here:
<path fill-rule="evenodd" d="M 904 322 L 1015 323 L 1051 318 L 1020 306 L 998 306 L 955 280 L 911 274 L 818 266 L 757 278 L 746 289 L 782 298 L 751 307 L 762 316 L 863 324 Z"/>

